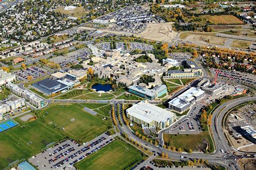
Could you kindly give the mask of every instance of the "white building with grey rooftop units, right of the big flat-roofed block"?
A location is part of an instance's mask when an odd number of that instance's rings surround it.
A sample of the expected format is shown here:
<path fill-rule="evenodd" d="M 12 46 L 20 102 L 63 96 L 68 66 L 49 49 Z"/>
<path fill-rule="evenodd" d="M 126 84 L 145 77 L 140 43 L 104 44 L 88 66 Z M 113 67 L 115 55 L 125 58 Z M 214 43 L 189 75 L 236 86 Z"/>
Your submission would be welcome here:
<path fill-rule="evenodd" d="M 183 94 L 173 98 L 173 100 L 169 102 L 169 108 L 181 114 L 190 109 L 191 105 L 197 100 L 203 98 L 204 95 L 205 91 L 200 88 L 191 87 Z"/>

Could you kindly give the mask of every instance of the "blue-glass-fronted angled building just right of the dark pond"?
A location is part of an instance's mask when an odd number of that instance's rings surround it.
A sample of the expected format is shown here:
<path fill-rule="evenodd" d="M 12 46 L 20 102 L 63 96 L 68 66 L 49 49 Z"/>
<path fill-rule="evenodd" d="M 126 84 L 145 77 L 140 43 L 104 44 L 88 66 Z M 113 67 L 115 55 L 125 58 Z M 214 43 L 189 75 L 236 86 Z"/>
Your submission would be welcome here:
<path fill-rule="evenodd" d="M 128 87 L 128 91 L 134 95 L 146 98 L 148 100 L 154 100 L 167 93 L 167 87 L 165 85 L 155 86 L 152 89 L 134 84 Z"/>

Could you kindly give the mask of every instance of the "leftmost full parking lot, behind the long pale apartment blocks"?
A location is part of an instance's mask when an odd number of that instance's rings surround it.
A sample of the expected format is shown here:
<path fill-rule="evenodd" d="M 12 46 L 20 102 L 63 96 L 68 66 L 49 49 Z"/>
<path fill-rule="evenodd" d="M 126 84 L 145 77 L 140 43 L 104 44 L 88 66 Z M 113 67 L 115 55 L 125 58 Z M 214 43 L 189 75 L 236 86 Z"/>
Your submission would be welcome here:
<path fill-rule="evenodd" d="M 31 76 L 32 80 L 35 80 L 51 73 L 50 70 L 46 70 L 45 68 L 31 66 L 23 70 L 18 70 L 15 72 L 15 75 L 21 81 L 28 81 L 28 76 Z"/>

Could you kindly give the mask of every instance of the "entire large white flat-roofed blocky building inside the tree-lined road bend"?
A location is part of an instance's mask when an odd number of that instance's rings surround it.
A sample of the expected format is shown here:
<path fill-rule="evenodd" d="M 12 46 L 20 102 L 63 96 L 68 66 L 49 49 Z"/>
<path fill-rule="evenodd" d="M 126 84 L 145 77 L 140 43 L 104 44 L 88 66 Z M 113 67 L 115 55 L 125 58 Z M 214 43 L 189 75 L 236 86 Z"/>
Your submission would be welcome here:
<path fill-rule="evenodd" d="M 131 122 L 149 128 L 164 129 L 176 121 L 176 114 L 147 103 L 147 101 L 133 104 L 131 108 L 126 110 L 126 116 Z"/>

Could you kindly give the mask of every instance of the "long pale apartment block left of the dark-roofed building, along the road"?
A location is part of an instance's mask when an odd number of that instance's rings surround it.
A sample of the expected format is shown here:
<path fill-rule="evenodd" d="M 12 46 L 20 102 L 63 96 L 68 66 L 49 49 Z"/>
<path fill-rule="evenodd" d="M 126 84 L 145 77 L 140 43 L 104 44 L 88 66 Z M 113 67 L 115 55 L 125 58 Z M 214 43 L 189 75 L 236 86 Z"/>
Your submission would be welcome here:
<path fill-rule="evenodd" d="M 44 106 L 43 98 L 36 96 L 34 93 L 31 93 L 28 90 L 22 90 L 13 83 L 6 84 L 6 87 L 8 87 L 12 93 L 25 98 L 26 101 L 35 105 L 37 108 L 42 108 Z"/>

